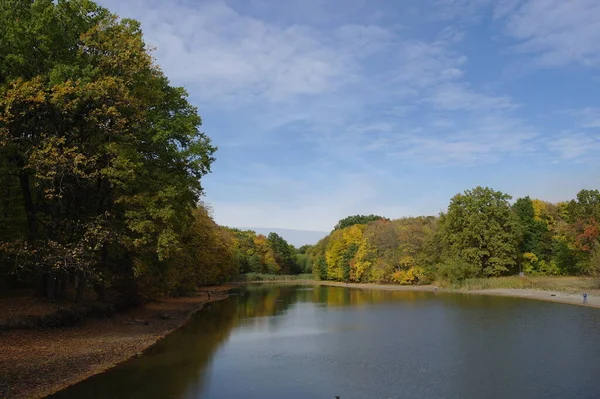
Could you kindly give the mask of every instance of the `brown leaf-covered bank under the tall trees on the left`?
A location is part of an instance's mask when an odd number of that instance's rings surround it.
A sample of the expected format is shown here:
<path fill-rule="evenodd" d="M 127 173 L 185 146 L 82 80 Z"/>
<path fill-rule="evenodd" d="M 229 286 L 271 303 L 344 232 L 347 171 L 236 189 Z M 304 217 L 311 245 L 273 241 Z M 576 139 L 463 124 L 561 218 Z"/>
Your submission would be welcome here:
<path fill-rule="evenodd" d="M 196 296 L 163 298 L 72 327 L 0 331 L 0 398 L 45 398 L 140 356 L 234 288 L 202 287 Z"/>

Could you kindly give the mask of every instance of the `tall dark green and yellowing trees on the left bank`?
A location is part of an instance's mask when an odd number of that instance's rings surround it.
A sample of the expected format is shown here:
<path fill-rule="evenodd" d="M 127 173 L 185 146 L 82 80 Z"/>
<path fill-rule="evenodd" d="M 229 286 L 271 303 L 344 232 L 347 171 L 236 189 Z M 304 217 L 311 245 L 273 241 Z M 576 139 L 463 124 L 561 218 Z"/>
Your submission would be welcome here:
<path fill-rule="evenodd" d="M 197 205 L 216 148 L 138 22 L 7 0 L 0 26 L 2 285 L 134 298 L 237 274 L 235 237 Z"/>

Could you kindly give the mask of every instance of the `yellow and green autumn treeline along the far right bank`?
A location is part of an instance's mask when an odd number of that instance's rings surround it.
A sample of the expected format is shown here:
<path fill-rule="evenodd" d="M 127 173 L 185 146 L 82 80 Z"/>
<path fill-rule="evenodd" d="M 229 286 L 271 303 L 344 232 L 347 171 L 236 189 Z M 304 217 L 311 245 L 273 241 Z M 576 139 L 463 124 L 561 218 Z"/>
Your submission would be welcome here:
<path fill-rule="evenodd" d="M 343 219 L 308 249 L 321 280 L 423 284 L 471 277 L 600 272 L 600 192 L 552 204 L 476 187 L 439 217 Z"/>

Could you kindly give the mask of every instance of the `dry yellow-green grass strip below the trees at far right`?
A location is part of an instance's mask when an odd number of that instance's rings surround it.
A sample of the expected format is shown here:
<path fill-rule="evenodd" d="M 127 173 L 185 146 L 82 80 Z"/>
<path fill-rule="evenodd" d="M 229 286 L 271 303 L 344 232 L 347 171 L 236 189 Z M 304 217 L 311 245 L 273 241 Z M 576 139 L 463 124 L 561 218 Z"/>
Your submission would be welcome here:
<path fill-rule="evenodd" d="M 600 278 L 572 276 L 511 276 L 470 278 L 460 283 L 452 284 L 449 288 L 462 289 L 466 291 L 516 288 L 581 292 L 582 290 L 600 290 Z"/>

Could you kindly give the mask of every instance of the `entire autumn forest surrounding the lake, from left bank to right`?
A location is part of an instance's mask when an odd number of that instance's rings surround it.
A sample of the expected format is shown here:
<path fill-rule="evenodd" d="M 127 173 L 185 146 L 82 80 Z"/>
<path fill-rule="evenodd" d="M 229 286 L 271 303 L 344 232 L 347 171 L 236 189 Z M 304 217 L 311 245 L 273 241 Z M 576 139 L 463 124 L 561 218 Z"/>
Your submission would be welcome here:
<path fill-rule="evenodd" d="M 600 271 L 600 193 L 552 204 L 490 188 L 438 216 L 342 219 L 316 245 L 217 225 L 217 148 L 140 24 L 87 0 L 0 6 L 0 289 L 136 302 L 246 273 L 426 284 Z"/>

